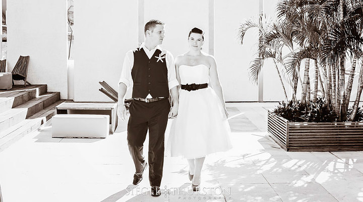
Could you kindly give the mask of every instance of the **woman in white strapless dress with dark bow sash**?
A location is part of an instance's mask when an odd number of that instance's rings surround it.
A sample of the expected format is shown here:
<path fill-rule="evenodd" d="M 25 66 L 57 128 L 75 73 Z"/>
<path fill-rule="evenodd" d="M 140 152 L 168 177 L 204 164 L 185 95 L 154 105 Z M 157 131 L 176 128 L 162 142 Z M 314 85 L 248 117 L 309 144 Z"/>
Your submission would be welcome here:
<path fill-rule="evenodd" d="M 189 51 L 175 58 L 179 89 L 178 115 L 170 129 L 171 156 L 189 163 L 189 179 L 199 190 L 205 156 L 231 148 L 228 113 L 213 56 L 201 51 L 204 33 L 193 28 Z M 210 82 L 209 82 L 210 81 Z"/>

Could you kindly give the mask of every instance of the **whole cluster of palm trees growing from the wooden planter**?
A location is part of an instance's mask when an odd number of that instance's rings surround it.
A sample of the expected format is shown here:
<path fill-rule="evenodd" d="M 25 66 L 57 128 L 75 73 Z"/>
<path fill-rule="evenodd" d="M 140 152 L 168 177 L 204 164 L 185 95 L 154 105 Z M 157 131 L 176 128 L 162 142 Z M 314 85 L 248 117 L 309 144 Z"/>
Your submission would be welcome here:
<path fill-rule="evenodd" d="M 277 6 L 277 17 L 276 23 L 267 23 L 260 15 L 258 22 L 249 19 L 239 28 L 241 43 L 248 29 L 259 29 L 258 56 L 251 62 L 250 78 L 257 83 L 264 60 L 272 58 L 285 97 L 286 88 L 281 74 L 292 88 L 293 99 L 296 100 L 297 83 L 300 83 L 301 102 L 309 102 L 309 69 L 313 60 L 312 101 L 315 102 L 318 97 L 320 83 L 322 96 L 334 107 L 339 120 L 347 120 L 355 68 L 363 57 L 363 0 L 281 0 Z M 286 47 L 289 53 L 283 56 L 282 49 Z M 347 82 L 346 58 L 353 61 Z M 299 75 L 301 61 L 305 62 L 302 79 Z M 362 72 L 363 67 L 360 67 L 359 88 L 350 121 L 354 119 L 363 91 Z"/>

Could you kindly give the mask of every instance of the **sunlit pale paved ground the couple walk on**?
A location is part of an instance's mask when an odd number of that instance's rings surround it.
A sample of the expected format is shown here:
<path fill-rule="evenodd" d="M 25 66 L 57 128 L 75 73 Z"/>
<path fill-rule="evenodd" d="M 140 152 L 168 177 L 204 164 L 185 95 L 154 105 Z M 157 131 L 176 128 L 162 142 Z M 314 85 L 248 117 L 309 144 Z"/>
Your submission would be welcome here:
<path fill-rule="evenodd" d="M 275 105 L 228 103 L 233 148 L 206 158 L 200 192 L 191 191 L 186 160 L 166 156 L 159 197 L 150 196 L 148 171 L 132 185 L 135 168 L 124 122 L 106 139 L 70 139 L 51 138 L 50 120 L 0 153 L 3 199 L 363 201 L 363 152 L 284 151 L 267 136 L 267 110 Z"/>

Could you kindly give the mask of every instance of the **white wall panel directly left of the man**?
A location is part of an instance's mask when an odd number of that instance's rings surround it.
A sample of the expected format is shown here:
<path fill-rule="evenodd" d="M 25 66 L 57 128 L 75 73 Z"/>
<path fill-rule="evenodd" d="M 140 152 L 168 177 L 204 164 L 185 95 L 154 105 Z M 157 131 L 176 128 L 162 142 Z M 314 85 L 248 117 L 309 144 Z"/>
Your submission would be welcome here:
<path fill-rule="evenodd" d="M 137 1 L 74 2 L 75 101 L 111 101 L 98 89 L 118 89 L 124 57 L 138 44 Z"/>

